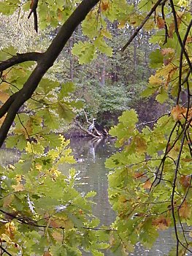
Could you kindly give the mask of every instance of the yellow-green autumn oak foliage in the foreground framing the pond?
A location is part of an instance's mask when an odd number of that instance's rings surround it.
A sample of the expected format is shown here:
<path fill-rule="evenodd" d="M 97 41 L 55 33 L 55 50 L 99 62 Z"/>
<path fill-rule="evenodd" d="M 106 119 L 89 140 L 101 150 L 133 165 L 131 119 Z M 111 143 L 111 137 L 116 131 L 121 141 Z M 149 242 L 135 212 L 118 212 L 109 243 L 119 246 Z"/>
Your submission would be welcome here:
<path fill-rule="evenodd" d="M 101 249 L 111 249 L 116 255 L 128 255 L 137 241 L 152 246 L 158 230 L 168 227 L 174 227 L 176 238 L 169 255 L 191 252 L 186 235 L 192 203 L 190 8 L 184 0 L 38 1 L 39 29 L 64 23 L 50 47 L 45 53 L 17 54 L 13 47 L 0 53 L 0 141 L 2 145 L 14 121 L 6 146 L 23 151 L 15 165 L 0 169 L 2 253 L 82 255 L 84 250 L 104 255 Z M 29 9 L 30 1 L 0 2 L 4 15 Z M 138 124 L 134 110 L 126 110 L 111 129 L 122 151 L 106 162 L 110 203 L 117 212 L 110 228 L 98 227 L 99 219 L 91 213 L 95 192 L 81 195 L 74 187 L 75 170 L 69 174 L 59 170 L 60 165 L 74 162 L 69 141 L 54 133 L 61 119 L 72 121 L 72 110 L 82 108 L 72 99 L 74 84 L 42 78 L 81 21 L 85 40 L 72 49 L 80 64 L 99 53 L 112 56 L 107 45 L 112 39 L 109 24 L 118 23 L 125 34 L 128 26 L 134 30 L 122 45 L 124 51 L 142 29 L 153 30 L 150 44 L 158 46 L 150 55 L 150 67 L 155 72 L 142 95 L 155 94 L 161 103 L 171 97 L 175 102 L 153 129 Z"/>

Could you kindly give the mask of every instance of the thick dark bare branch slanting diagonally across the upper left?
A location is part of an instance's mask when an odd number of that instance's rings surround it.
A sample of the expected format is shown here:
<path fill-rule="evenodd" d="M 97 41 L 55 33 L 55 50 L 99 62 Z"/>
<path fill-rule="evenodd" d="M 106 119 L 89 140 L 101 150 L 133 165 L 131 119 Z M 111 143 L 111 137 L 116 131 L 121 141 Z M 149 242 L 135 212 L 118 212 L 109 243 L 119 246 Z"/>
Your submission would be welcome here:
<path fill-rule="evenodd" d="M 40 80 L 45 75 L 47 70 L 53 66 L 55 59 L 63 50 L 66 42 L 72 36 L 74 29 L 85 19 L 88 12 L 99 2 L 99 0 L 83 0 L 72 15 L 66 20 L 60 31 L 56 35 L 50 47 L 43 53 L 42 57 L 37 62 L 37 67 L 29 76 L 28 80 L 24 84 L 23 88 L 18 92 L 17 97 L 7 110 L 7 116 L 4 119 L 4 123 L 0 128 L 0 146 L 4 143 L 9 128 L 18 113 L 19 108 L 26 102 L 34 93 L 35 89 L 39 85 Z"/>

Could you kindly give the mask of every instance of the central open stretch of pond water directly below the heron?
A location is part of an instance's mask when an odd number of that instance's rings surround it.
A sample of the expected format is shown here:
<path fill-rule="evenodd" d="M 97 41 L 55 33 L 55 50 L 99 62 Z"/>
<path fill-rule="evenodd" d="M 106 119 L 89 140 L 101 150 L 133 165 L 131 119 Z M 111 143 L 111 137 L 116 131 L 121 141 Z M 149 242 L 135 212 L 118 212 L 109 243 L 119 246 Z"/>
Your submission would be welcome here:
<path fill-rule="evenodd" d="M 112 154 L 114 146 L 113 143 L 106 142 L 104 139 L 78 138 L 71 140 L 71 147 L 76 153 L 75 157 L 84 159 L 83 162 L 76 165 L 81 176 L 78 188 L 82 192 L 90 190 L 97 192 L 96 197 L 93 197 L 93 201 L 97 203 L 96 206 L 93 206 L 93 214 L 101 219 L 101 224 L 110 225 L 115 214 L 108 201 L 107 170 L 104 162 L 108 155 Z"/>

